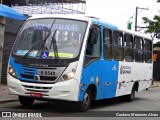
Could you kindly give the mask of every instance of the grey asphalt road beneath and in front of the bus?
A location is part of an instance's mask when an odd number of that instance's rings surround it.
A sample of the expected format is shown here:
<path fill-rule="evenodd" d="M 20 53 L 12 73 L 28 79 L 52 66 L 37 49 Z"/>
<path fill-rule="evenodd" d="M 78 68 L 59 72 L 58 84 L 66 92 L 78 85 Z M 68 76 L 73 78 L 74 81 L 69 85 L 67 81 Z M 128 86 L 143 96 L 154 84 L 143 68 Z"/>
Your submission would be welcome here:
<path fill-rule="evenodd" d="M 39 113 L 42 115 L 41 119 L 53 119 L 57 120 L 67 119 L 72 120 L 74 118 L 81 119 L 112 119 L 112 116 L 115 114 L 130 114 L 136 113 L 145 114 L 145 113 L 153 113 L 154 115 L 158 114 L 158 117 L 140 117 L 140 119 L 145 120 L 159 120 L 160 119 L 160 87 L 150 88 L 149 90 L 141 91 L 136 94 L 136 98 L 133 102 L 125 102 L 121 98 L 100 100 L 95 102 L 88 112 L 75 112 L 73 109 L 74 104 L 72 103 L 62 103 L 62 102 L 46 102 L 46 101 L 35 101 L 33 106 L 31 107 L 23 107 L 19 102 L 9 102 L 9 103 L 1 103 L 0 111 L 11 111 L 12 113 Z M 128 112 L 130 111 L 130 112 Z M 144 112 L 148 111 L 148 112 Z M 111 117 L 110 117 L 111 116 Z M 118 116 L 118 115 L 117 115 Z M 44 118 L 46 117 L 46 118 Z M 50 118 L 49 118 L 50 117 Z M 139 117 L 114 117 L 116 120 L 138 120 Z M 2 118 L 9 119 L 9 118 Z M 17 119 L 17 118 L 14 118 Z M 27 119 L 27 118 L 23 118 Z"/>

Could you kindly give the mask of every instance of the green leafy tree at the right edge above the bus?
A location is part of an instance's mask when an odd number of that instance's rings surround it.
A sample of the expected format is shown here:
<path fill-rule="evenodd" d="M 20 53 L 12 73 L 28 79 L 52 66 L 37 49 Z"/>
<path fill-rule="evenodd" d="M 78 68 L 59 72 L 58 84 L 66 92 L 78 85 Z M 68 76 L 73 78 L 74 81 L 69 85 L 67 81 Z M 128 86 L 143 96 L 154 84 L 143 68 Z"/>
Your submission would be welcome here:
<path fill-rule="evenodd" d="M 157 0 L 157 2 L 160 3 L 160 0 Z M 144 24 L 148 25 L 145 33 L 154 33 L 155 36 L 160 33 L 160 15 L 155 15 L 153 20 L 147 17 L 143 17 L 142 20 Z"/>

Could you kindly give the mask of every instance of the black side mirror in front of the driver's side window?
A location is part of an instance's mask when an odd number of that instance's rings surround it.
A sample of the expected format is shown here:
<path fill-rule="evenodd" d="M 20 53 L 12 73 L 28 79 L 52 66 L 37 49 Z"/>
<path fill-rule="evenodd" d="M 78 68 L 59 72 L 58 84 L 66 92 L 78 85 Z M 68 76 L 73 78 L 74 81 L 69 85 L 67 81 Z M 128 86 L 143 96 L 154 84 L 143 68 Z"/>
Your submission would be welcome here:
<path fill-rule="evenodd" d="M 90 44 L 96 44 L 97 43 L 97 39 L 98 39 L 98 29 L 97 28 L 92 28 L 90 30 L 90 35 L 89 35 L 89 43 Z"/>

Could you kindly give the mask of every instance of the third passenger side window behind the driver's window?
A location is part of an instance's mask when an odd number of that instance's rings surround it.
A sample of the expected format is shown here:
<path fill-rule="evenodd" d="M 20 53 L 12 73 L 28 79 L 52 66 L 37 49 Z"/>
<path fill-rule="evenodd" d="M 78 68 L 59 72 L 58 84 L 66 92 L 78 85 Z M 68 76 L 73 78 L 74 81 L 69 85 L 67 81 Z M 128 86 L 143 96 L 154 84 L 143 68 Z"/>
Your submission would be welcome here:
<path fill-rule="evenodd" d="M 124 35 L 124 56 L 126 62 L 132 62 L 134 60 L 133 36 L 129 34 Z"/>

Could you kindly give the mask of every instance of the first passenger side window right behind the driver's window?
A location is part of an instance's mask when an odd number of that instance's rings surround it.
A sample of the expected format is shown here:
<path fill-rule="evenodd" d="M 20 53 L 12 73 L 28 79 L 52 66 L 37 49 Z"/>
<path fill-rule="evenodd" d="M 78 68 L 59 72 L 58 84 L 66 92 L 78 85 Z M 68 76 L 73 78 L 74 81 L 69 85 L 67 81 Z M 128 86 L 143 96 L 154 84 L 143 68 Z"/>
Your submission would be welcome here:
<path fill-rule="evenodd" d="M 112 31 L 109 29 L 104 29 L 104 40 L 103 40 L 103 47 L 104 47 L 104 59 L 111 60 L 112 59 Z"/>

